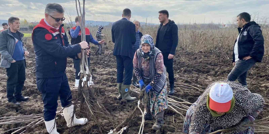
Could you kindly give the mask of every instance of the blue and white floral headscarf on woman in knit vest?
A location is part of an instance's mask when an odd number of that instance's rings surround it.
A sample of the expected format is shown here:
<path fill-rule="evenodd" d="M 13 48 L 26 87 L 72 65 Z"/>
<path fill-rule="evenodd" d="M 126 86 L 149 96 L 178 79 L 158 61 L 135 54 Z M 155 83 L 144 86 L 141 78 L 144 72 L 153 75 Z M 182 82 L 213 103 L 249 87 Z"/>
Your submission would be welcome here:
<path fill-rule="evenodd" d="M 142 44 L 144 43 L 148 43 L 150 45 L 150 50 L 149 52 L 147 53 L 144 53 L 144 51 L 142 51 Z M 153 48 L 154 48 L 154 42 L 153 42 L 153 38 L 148 35 L 148 34 L 145 34 L 141 37 L 140 39 L 140 46 L 139 46 L 139 54 L 145 58 L 145 59 L 149 59 L 151 56 L 152 56 L 152 51 L 153 51 Z"/>

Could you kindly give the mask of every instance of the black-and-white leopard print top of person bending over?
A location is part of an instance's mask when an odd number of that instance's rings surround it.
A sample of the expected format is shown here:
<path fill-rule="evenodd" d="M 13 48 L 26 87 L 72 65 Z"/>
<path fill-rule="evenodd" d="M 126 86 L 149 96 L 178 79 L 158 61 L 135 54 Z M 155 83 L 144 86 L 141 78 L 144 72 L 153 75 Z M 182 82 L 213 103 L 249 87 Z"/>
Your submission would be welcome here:
<path fill-rule="evenodd" d="M 219 117 L 213 117 L 206 106 L 208 93 L 215 83 L 229 84 L 235 97 L 235 106 L 233 110 L 230 113 Z M 238 125 L 244 117 L 248 116 L 249 113 L 257 108 L 262 107 L 264 104 L 264 99 L 261 95 L 251 93 L 246 87 L 239 83 L 231 81 L 220 81 L 215 83 L 207 87 L 205 92 L 201 95 L 201 99 L 197 102 L 196 109 L 191 117 L 189 132 L 202 132 L 202 129 L 204 128 L 203 126 L 206 123 L 210 124 L 211 132 L 219 129 L 231 128 Z"/>

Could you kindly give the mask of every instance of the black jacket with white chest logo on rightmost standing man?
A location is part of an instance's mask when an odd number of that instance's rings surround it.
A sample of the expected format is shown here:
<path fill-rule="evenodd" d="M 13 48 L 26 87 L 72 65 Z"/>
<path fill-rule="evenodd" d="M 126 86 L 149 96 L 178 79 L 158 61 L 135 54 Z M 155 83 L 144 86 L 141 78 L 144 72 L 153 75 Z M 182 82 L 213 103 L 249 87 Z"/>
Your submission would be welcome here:
<path fill-rule="evenodd" d="M 238 58 L 243 59 L 250 56 L 256 62 L 261 62 L 264 55 L 264 39 L 259 24 L 251 21 L 238 28 Z M 237 39 L 234 42 L 236 43 Z M 235 55 L 233 51 L 233 62 L 235 62 Z"/>

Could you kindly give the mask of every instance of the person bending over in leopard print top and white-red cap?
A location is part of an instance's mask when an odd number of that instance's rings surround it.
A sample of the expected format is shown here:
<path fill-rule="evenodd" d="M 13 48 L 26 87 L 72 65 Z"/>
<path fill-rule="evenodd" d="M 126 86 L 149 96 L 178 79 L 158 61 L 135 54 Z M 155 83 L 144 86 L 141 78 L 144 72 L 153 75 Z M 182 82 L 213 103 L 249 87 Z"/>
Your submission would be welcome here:
<path fill-rule="evenodd" d="M 253 123 L 263 110 L 263 97 L 231 81 L 212 83 L 187 111 L 183 132 L 206 134 L 235 127 L 232 134 L 254 134 Z"/>

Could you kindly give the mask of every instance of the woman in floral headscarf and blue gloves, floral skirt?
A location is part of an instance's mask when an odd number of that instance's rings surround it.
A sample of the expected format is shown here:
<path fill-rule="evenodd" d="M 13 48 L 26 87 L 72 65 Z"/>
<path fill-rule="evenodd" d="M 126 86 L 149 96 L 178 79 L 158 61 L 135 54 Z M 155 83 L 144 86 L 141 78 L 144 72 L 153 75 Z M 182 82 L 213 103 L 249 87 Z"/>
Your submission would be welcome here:
<path fill-rule="evenodd" d="M 164 124 L 164 110 L 167 109 L 168 101 L 163 55 L 154 47 L 150 35 L 141 37 L 140 48 L 135 52 L 133 63 L 140 90 L 145 90 L 145 98 L 148 99 L 144 104 L 147 113 L 145 120 L 156 117 L 156 122 L 152 126 L 156 131 Z"/>

